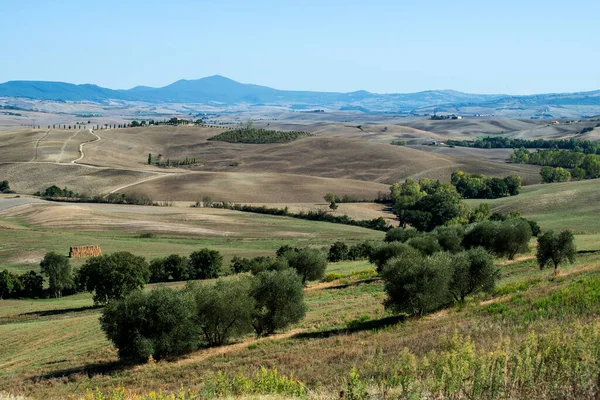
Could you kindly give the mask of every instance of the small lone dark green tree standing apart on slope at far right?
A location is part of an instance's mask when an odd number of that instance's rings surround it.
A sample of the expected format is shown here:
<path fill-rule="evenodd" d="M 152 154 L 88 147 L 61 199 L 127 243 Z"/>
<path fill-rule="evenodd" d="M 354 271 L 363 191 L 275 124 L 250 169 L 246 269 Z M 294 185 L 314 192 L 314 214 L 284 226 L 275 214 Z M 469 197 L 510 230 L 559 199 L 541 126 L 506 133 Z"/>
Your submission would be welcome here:
<path fill-rule="evenodd" d="M 536 256 L 540 269 L 552 264 L 556 272 L 561 264 L 574 263 L 576 255 L 575 237 L 571 231 L 562 231 L 556 234 L 550 230 L 538 237 Z"/>

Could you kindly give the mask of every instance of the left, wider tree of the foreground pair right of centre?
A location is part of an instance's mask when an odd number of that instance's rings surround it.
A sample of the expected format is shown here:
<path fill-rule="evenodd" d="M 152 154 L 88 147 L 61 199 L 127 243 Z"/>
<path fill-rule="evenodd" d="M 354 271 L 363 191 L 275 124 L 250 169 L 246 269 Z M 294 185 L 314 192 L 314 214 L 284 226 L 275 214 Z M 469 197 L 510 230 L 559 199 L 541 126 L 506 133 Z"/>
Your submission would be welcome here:
<path fill-rule="evenodd" d="M 452 257 L 402 255 L 389 260 L 381 273 L 385 282 L 386 308 L 398 313 L 424 315 L 451 301 Z"/>

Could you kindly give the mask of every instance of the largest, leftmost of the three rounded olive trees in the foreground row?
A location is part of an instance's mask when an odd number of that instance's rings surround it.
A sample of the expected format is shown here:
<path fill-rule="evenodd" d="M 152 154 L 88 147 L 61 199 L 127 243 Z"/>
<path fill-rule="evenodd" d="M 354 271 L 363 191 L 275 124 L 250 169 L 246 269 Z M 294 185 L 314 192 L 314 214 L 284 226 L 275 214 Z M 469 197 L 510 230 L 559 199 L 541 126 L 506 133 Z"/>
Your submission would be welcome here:
<path fill-rule="evenodd" d="M 120 359 L 145 362 L 152 356 L 160 360 L 198 348 L 193 312 L 193 300 L 184 292 L 136 290 L 109 303 L 102 311 L 100 326 Z"/>

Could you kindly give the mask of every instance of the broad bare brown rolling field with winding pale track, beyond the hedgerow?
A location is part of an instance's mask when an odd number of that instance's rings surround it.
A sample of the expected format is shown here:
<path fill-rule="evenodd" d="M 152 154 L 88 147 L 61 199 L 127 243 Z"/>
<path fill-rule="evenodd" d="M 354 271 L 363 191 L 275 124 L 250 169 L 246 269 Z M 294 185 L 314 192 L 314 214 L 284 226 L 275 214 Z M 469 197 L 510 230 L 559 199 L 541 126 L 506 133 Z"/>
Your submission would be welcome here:
<path fill-rule="evenodd" d="M 280 129 L 276 124 L 267 128 Z M 195 201 L 209 195 L 215 200 L 265 203 L 317 202 L 331 191 L 375 198 L 393 182 L 422 176 L 448 181 L 457 169 L 492 176 L 520 173 L 526 184 L 539 182 L 537 167 L 507 164 L 497 153 L 437 152 L 389 144 L 398 138 L 422 142 L 445 137 L 412 127 L 371 124 L 359 129 L 317 123 L 283 124 L 284 128 L 315 136 L 257 145 L 208 141 L 223 129 L 198 126 L 101 130 L 96 132 L 101 140 L 94 142 L 89 142 L 88 131 L 5 132 L 0 159 L 18 164 L 0 164 L 0 176 L 22 193 L 51 182 L 86 194 L 119 190 L 155 200 Z M 71 164 L 84 142 L 89 142 L 84 157 L 77 161 L 82 165 Z M 163 161 L 189 157 L 197 164 L 158 168 L 147 165 L 149 153 L 154 160 L 160 154 Z"/>

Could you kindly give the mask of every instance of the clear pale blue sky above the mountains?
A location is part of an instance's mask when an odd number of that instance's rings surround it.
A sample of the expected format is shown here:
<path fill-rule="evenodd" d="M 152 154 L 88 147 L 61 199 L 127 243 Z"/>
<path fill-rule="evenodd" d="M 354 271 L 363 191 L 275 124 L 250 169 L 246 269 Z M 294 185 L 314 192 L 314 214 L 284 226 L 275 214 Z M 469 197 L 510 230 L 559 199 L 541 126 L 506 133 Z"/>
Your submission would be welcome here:
<path fill-rule="evenodd" d="M 600 89 L 600 2 L 0 0 L 0 82 Z"/>

